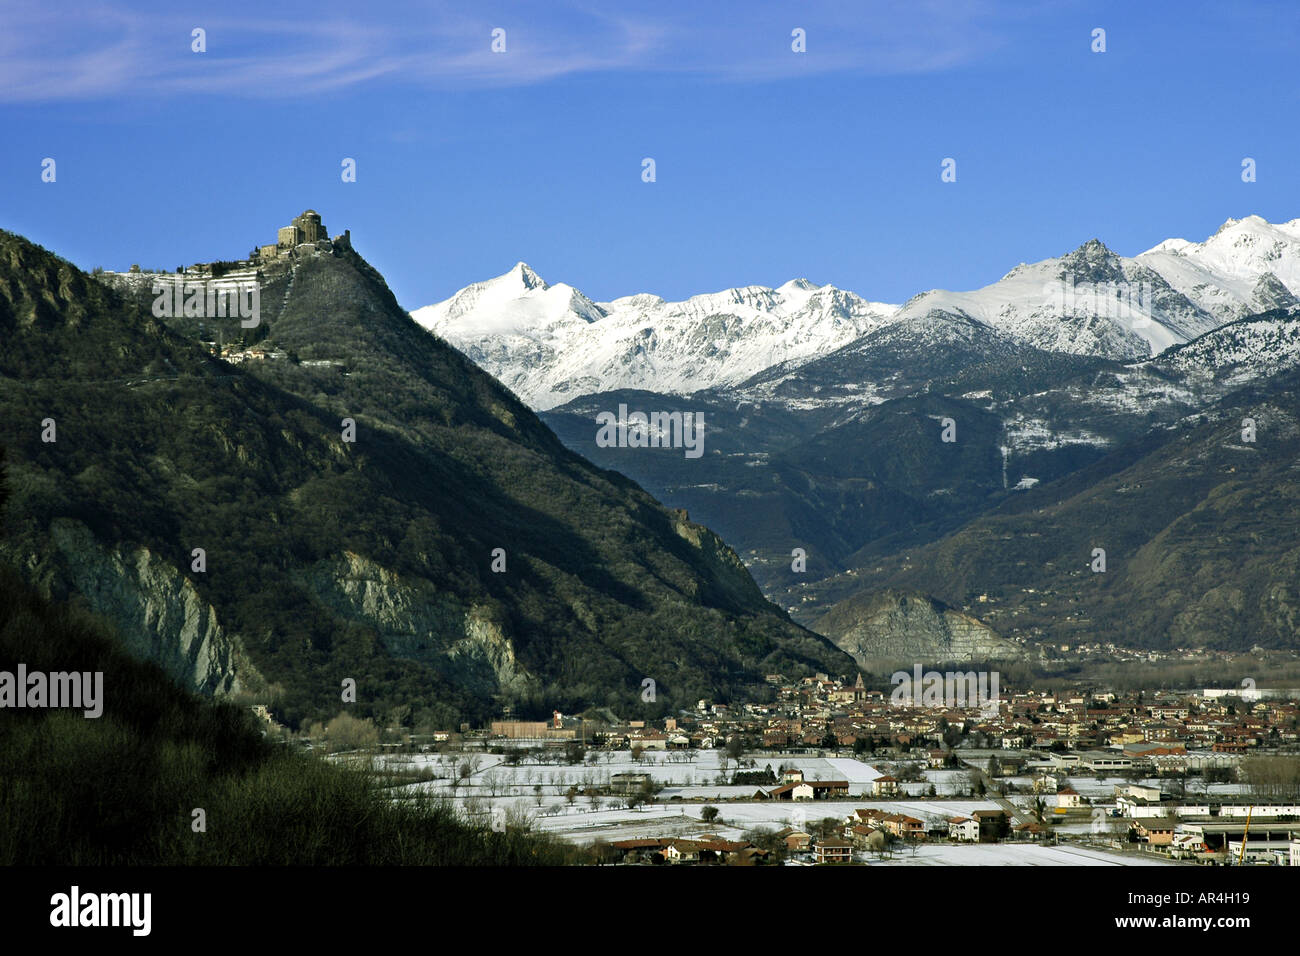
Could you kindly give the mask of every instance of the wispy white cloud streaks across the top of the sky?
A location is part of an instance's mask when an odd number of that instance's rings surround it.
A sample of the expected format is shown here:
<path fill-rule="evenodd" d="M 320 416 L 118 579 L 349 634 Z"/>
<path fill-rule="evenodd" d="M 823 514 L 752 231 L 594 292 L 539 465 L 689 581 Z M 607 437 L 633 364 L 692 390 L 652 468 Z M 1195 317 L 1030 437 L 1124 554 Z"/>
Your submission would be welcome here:
<path fill-rule="evenodd" d="M 611 8 L 612 7 L 612 8 Z M 980 60 L 1005 40 L 985 3 L 376 5 L 237 0 L 212 17 L 162 3 L 8 0 L 0 8 L 0 100 L 328 94 L 348 87 L 523 86 L 602 72 L 775 81 L 831 72 L 928 73 Z M 1023 8 L 1022 8 L 1023 9 Z M 207 30 L 208 51 L 190 51 Z M 490 49 L 506 30 L 506 53 Z M 790 51 L 790 31 L 807 52 Z"/>

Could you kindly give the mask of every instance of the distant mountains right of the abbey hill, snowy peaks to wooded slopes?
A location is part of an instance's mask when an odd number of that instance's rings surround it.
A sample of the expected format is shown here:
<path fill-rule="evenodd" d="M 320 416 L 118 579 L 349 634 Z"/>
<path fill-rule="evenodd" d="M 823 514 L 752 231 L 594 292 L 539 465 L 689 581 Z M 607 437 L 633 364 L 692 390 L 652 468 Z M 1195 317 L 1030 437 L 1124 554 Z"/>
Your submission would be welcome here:
<path fill-rule="evenodd" d="M 931 646 L 902 624 L 878 627 L 881 653 L 863 639 L 864 619 L 920 620 L 901 613 L 907 596 L 978 617 L 993 650 L 1296 644 L 1292 538 L 1258 535 L 1261 515 L 1297 503 L 1300 220 L 1228 220 L 1132 258 L 1093 239 L 897 308 L 796 281 L 685 303 L 628 297 L 593 303 L 581 324 L 541 324 L 521 303 L 547 286 L 516 294 L 514 274 L 415 316 L 569 447 L 689 509 L 768 597 L 859 662 Z M 796 308 L 792 289 L 818 291 Z M 660 317 L 677 315 L 708 329 L 708 347 Z M 653 347 L 611 346 L 632 339 Z M 594 418 L 620 405 L 702 416 L 705 455 L 602 447 Z M 1093 578 L 1101 538 L 1112 562 Z M 1227 548 L 1243 557 L 1223 561 Z"/>

